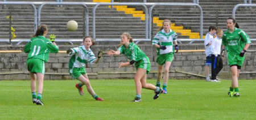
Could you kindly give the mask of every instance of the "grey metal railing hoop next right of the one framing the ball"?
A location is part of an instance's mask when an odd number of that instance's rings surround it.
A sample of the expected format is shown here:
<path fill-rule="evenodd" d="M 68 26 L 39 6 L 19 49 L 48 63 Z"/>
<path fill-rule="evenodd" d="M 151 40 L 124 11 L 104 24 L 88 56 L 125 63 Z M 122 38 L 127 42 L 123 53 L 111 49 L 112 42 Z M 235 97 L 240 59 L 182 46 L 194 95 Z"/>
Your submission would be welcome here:
<path fill-rule="evenodd" d="M 144 8 L 144 12 L 146 15 L 145 18 L 145 37 L 148 38 L 148 9 L 147 6 L 145 5 L 145 3 L 98 3 L 96 6 L 93 7 L 93 13 L 92 13 L 92 17 L 93 17 L 93 24 L 92 24 L 92 30 L 93 30 L 93 38 L 96 38 L 96 20 L 95 20 L 95 16 L 96 16 L 96 10 L 98 6 L 142 6 Z"/>

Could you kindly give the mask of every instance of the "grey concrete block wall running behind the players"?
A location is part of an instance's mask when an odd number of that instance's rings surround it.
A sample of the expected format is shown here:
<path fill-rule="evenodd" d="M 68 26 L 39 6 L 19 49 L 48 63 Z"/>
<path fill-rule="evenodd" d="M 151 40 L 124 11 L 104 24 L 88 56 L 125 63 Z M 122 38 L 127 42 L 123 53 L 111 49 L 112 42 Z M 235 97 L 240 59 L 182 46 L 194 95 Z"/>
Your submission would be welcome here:
<path fill-rule="evenodd" d="M 60 46 L 60 50 L 67 50 L 76 46 Z M 158 64 L 156 61 L 156 49 L 151 45 L 139 46 L 147 54 L 151 61 L 151 74 L 147 78 L 156 78 Z M 256 45 L 250 46 L 250 52 L 246 52 L 246 60 L 242 66 L 240 79 L 256 78 Z M 108 51 L 115 49 L 115 46 L 93 46 L 92 50 L 97 55 L 98 50 Z M 203 45 L 180 45 L 180 50 L 204 49 Z M 23 46 L 1 46 L 0 50 L 23 50 Z M 72 79 L 68 74 L 68 61 L 65 53 L 51 53 L 49 62 L 46 63 L 45 79 Z M 27 71 L 26 53 L 0 53 L 0 79 L 30 79 Z M 119 62 L 129 61 L 123 55 L 109 57 L 104 54 L 98 64 L 90 65 L 88 63 L 86 71 L 90 79 L 118 79 L 134 77 L 135 68 L 133 66 L 119 68 Z M 180 52 L 175 54 L 174 61 L 170 68 L 170 79 L 204 79 L 194 75 L 183 74 L 174 71 L 184 71 L 193 74 L 204 75 L 205 73 L 205 53 L 204 52 Z M 118 72 L 118 73 L 116 73 Z M 230 68 L 227 66 L 226 57 L 224 57 L 224 69 L 220 72 L 221 79 L 230 78 Z"/>

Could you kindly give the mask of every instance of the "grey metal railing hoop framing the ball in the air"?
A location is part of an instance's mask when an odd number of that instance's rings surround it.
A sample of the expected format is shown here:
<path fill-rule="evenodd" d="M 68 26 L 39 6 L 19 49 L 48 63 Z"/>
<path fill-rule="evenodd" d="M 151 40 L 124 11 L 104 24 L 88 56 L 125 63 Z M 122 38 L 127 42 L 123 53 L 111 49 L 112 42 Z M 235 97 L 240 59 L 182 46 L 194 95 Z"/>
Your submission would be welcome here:
<path fill-rule="evenodd" d="M 43 3 L 39 9 L 38 9 L 38 25 L 40 25 L 40 20 L 41 20 L 41 11 L 42 11 L 42 7 L 44 5 L 81 5 L 84 7 L 85 10 L 85 31 L 86 31 L 86 36 L 89 36 L 89 11 L 87 6 L 85 5 L 85 3 L 82 2 L 47 2 L 47 3 Z"/>

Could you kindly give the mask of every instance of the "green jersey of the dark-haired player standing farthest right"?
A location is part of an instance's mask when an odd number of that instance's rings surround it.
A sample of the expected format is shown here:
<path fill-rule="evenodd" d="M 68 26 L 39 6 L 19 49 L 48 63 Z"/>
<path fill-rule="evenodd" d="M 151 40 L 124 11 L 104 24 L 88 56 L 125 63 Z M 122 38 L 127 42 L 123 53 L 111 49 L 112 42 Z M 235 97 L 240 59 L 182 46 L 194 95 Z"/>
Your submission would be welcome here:
<path fill-rule="evenodd" d="M 250 43 L 250 37 L 242 29 L 238 28 L 234 28 L 233 33 L 229 33 L 226 30 L 222 37 L 222 45 L 225 45 L 226 50 L 232 54 L 240 54 L 243 48 L 245 48 L 245 44 Z"/>

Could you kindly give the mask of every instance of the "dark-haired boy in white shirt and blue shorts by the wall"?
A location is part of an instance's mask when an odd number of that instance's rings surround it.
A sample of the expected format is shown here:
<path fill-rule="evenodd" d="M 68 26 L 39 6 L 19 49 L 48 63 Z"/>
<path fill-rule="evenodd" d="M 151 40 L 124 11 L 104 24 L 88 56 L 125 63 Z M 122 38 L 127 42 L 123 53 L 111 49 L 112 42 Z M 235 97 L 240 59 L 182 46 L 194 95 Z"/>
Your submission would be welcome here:
<path fill-rule="evenodd" d="M 205 74 L 206 74 L 206 80 L 207 82 L 210 82 L 210 78 L 209 78 L 209 70 L 210 70 L 210 66 L 211 66 L 211 46 L 212 46 L 212 40 L 214 39 L 214 34 L 217 31 L 217 27 L 216 25 L 210 25 L 209 27 L 209 32 L 207 33 L 207 35 L 205 36 L 205 40 L 204 40 L 204 46 L 205 46 L 205 54 L 207 56 L 206 58 L 206 63 L 205 63 Z"/>

